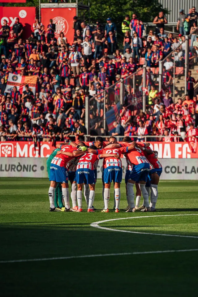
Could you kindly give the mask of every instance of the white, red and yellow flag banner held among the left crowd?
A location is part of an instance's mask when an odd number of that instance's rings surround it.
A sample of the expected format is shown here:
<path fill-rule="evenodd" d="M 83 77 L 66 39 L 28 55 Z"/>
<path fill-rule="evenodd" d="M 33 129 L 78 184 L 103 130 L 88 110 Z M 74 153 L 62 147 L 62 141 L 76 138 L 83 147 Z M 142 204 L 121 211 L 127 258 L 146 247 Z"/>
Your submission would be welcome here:
<path fill-rule="evenodd" d="M 17 87 L 17 91 L 21 94 L 25 91 L 25 85 L 28 84 L 30 90 L 35 95 L 37 88 L 37 75 L 21 76 L 13 73 L 9 73 L 5 93 L 13 91 L 14 87 Z"/>

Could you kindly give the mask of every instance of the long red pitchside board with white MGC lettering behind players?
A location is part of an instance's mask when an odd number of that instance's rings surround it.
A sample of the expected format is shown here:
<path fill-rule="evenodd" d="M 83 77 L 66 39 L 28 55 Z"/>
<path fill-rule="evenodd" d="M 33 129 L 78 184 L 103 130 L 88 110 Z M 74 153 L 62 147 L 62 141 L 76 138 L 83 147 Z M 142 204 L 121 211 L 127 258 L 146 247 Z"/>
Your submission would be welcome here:
<path fill-rule="evenodd" d="M 54 147 L 52 142 L 41 141 L 41 155 L 39 148 L 34 151 L 34 142 L 7 141 L 0 142 L 0 157 L 49 157 Z M 198 158 L 198 152 L 192 153 L 187 142 L 151 142 L 151 148 L 158 151 L 158 158 Z"/>

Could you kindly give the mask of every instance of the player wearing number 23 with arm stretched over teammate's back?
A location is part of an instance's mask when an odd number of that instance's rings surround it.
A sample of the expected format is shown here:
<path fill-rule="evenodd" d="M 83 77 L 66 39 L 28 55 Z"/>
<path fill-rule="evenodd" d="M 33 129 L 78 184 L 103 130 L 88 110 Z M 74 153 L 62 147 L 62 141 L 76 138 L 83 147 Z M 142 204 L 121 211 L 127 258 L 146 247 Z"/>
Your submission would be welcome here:
<path fill-rule="evenodd" d="M 77 212 L 82 212 L 82 188 L 84 180 L 89 185 L 89 203 L 87 212 L 94 212 L 92 205 L 95 196 L 95 173 L 94 173 L 94 164 L 98 161 L 99 158 L 108 156 L 106 153 L 102 153 L 102 150 L 97 150 L 96 146 L 91 146 L 88 149 L 88 153 L 85 152 L 83 156 L 80 157 L 79 162 L 76 167 L 76 183 L 78 186 L 77 190 L 77 201 L 78 201 L 78 210 Z M 115 153 L 110 154 L 111 157 L 115 156 Z"/>

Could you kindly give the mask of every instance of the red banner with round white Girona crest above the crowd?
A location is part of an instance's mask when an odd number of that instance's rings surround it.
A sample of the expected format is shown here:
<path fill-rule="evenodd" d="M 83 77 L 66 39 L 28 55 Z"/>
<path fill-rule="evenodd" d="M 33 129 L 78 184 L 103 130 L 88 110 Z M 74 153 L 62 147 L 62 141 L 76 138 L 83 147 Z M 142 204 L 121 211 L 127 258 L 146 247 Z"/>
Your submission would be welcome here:
<path fill-rule="evenodd" d="M 70 44 L 74 40 L 72 25 L 75 15 L 75 8 L 41 8 L 41 22 L 45 26 L 45 31 L 47 32 L 49 19 L 52 19 L 56 25 L 55 38 L 60 37 L 60 33 L 63 32 L 64 36 L 67 37 L 67 42 Z"/>

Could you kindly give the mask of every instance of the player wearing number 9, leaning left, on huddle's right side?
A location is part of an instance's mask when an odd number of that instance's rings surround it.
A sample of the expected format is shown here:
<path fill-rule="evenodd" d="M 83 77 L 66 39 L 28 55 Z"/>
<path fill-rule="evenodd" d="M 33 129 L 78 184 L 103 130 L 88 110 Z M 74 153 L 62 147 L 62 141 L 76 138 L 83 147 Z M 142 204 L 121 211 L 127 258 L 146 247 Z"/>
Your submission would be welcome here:
<path fill-rule="evenodd" d="M 122 144 L 122 147 L 130 146 L 131 143 L 124 142 Z M 145 148 L 142 148 L 145 150 Z M 142 149 L 140 147 L 135 146 L 133 150 L 131 150 L 129 153 L 126 153 L 125 156 L 128 159 L 128 162 L 130 162 L 132 167 L 132 172 L 129 176 L 128 183 L 127 183 L 127 194 L 128 194 L 128 202 L 130 208 L 126 212 L 135 212 L 135 204 L 134 204 L 134 191 L 133 186 L 136 182 L 139 182 L 140 190 L 142 192 L 144 203 L 146 205 L 145 211 L 151 211 L 149 207 L 149 195 L 146 191 L 146 181 L 147 176 L 149 174 L 150 165 L 147 158 L 144 156 L 144 153 L 142 152 Z"/>

